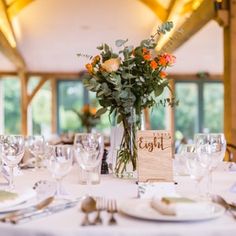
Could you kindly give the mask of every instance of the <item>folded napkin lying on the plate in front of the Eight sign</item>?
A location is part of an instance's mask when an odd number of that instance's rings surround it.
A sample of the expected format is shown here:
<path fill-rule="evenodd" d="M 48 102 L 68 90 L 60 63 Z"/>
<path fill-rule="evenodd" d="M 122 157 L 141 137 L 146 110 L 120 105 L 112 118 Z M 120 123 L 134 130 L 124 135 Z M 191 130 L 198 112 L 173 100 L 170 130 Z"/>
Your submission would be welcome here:
<path fill-rule="evenodd" d="M 182 197 L 154 197 L 151 200 L 151 207 L 163 215 L 180 217 L 202 215 L 213 210 L 209 203 Z"/>

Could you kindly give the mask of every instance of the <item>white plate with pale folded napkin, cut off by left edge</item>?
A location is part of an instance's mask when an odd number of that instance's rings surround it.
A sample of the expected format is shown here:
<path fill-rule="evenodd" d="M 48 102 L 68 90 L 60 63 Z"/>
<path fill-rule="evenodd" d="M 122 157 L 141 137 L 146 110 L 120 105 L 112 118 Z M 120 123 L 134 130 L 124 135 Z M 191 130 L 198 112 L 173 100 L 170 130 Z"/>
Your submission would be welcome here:
<path fill-rule="evenodd" d="M 34 197 L 36 197 L 36 191 L 33 189 L 27 189 L 19 193 L 0 191 L 0 211 L 7 210 Z"/>

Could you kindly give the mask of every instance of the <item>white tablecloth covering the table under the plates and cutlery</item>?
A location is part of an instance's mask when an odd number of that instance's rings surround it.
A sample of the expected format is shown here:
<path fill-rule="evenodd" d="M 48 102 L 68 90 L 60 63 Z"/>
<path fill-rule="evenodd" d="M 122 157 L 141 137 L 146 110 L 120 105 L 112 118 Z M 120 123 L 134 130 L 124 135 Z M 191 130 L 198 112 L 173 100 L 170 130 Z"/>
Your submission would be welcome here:
<path fill-rule="evenodd" d="M 38 180 L 50 179 L 50 174 L 45 171 L 23 171 L 22 176 L 16 178 L 16 186 L 33 186 Z M 175 177 L 178 182 L 177 191 L 182 194 L 195 192 L 194 182 L 189 176 Z M 76 168 L 65 178 L 64 186 L 75 196 L 83 196 L 86 193 L 106 198 L 115 198 L 118 201 L 137 196 L 137 185 L 132 180 L 116 179 L 112 176 L 103 176 L 99 185 L 87 188 L 79 185 Z M 230 186 L 236 182 L 236 172 L 228 172 L 223 169 L 213 175 L 213 191 L 221 194 L 229 201 L 236 201 L 236 194 L 229 191 Z M 79 207 L 68 209 L 51 216 L 33 220 L 20 225 L 0 223 L 0 236 L 74 236 L 74 235 L 144 235 L 144 236 L 179 236 L 179 235 L 209 235 L 209 236 L 235 236 L 236 221 L 228 214 L 202 222 L 156 222 L 134 219 L 125 215 L 116 214 L 118 225 L 108 226 L 108 215 L 102 213 L 104 224 L 102 226 L 81 227 L 83 214 Z"/>

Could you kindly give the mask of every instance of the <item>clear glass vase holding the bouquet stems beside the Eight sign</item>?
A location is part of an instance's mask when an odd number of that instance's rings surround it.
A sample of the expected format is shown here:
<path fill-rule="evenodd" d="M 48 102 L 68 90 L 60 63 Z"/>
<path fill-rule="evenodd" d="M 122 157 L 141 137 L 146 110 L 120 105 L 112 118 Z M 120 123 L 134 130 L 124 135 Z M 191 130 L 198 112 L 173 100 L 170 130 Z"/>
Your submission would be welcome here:
<path fill-rule="evenodd" d="M 123 134 L 113 168 L 118 178 L 137 178 L 136 133 L 141 128 L 142 120 L 141 114 L 137 114 L 133 108 L 129 116 L 122 117 Z"/>

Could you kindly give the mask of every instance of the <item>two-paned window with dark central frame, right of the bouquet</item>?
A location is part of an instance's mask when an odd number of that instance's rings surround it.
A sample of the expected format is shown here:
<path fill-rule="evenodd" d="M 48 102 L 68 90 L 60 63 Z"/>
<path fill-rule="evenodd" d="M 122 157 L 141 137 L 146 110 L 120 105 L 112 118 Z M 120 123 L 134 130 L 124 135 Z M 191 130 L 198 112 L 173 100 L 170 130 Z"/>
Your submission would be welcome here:
<path fill-rule="evenodd" d="M 223 83 L 199 79 L 177 81 L 175 108 L 177 140 L 192 140 L 198 132 L 223 132 Z"/>

